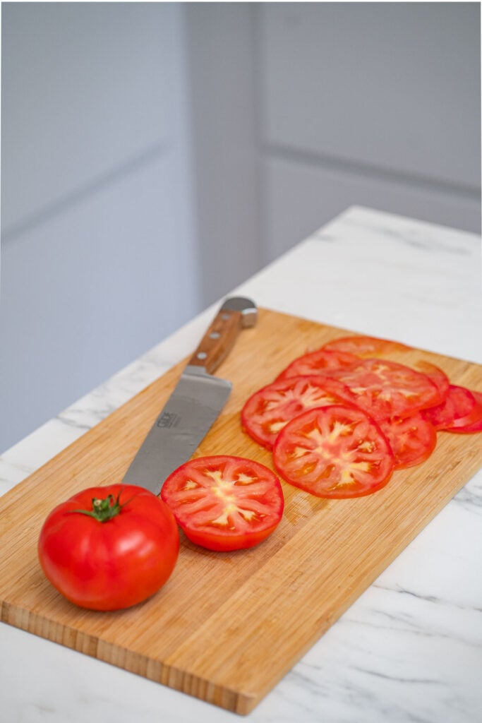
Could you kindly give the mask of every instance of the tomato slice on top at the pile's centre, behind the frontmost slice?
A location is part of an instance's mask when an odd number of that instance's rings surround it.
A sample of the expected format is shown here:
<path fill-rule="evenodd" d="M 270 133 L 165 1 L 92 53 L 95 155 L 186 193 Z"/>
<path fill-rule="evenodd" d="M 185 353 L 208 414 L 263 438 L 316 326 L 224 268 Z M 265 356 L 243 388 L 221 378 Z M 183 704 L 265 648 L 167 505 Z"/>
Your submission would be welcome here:
<path fill-rule="evenodd" d="M 359 359 L 330 376 L 342 381 L 356 404 L 374 419 L 411 416 L 440 403 L 441 395 L 427 375 L 388 359 Z"/>

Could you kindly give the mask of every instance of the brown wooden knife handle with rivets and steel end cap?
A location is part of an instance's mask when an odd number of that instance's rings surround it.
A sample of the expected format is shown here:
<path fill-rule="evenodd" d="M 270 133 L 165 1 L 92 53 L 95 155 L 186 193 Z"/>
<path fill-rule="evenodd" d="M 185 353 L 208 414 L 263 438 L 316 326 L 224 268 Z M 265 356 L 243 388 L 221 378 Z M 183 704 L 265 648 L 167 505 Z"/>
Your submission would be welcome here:
<path fill-rule="evenodd" d="M 228 356 L 241 329 L 254 326 L 256 320 L 257 308 L 251 299 L 226 299 L 189 359 L 189 366 L 202 367 L 212 374 Z"/>

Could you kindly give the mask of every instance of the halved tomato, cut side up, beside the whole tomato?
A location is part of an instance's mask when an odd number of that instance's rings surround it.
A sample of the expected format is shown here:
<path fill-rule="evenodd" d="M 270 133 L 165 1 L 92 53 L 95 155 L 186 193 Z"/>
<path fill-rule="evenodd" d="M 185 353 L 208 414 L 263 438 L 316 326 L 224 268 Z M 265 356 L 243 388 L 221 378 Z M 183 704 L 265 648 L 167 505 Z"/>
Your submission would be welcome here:
<path fill-rule="evenodd" d="M 283 515 L 277 476 L 253 460 L 228 455 L 198 457 L 165 480 L 161 497 L 186 537 L 226 552 L 254 547 Z"/>

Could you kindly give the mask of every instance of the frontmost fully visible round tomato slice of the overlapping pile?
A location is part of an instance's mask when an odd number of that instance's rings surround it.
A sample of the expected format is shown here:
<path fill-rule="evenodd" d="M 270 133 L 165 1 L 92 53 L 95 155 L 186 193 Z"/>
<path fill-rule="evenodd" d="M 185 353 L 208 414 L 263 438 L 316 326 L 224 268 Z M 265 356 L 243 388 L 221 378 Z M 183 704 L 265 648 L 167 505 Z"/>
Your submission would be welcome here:
<path fill-rule="evenodd" d="M 381 489 L 395 460 L 382 430 L 361 409 L 309 409 L 289 422 L 273 448 L 286 482 L 317 497 L 361 497 Z"/>

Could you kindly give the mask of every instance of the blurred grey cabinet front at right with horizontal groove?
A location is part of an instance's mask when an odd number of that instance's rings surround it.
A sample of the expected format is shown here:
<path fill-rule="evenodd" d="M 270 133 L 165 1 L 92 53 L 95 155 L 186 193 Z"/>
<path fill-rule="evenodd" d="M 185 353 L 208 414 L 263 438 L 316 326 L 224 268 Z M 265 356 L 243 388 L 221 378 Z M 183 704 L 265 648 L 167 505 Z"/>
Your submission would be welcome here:
<path fill-rule="evenodd" d="M 480 230 L 477 3 L 257 10 L 265 260 L 350 205 Z"/>

